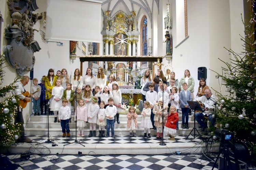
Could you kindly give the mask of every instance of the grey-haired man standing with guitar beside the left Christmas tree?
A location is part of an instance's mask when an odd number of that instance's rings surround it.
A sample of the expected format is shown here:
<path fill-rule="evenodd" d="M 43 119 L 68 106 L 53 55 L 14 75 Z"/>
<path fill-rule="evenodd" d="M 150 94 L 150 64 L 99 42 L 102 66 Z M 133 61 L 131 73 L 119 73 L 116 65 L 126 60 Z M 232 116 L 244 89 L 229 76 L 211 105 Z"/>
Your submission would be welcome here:
<path fill-rule="evenodd" d="M 28 76 L 23 76 L 22 79 L 17 82 L 18 86 L 16 87 L 14 93 L 15 95 L 20 99 L 20 100 L 25 100 L 29 101 L 29 98 L 24 96 L 22 93 L 25 92 L 24 86 L 26 86 L 29 82 L 29 77 Z M 32 142 L 31 139 L 25 137 L 25 129 L 24 129 L 24 119 L 23 119 L 23 114 L 22 114 L 22 108 L 18 108 L 17 110 L 17 115 L 15 116 L 15 123 L 21 123 L 22 129 L 20 133 L 20 138 L 18 139 L 18 142 L 27 142 L 30 143 Z"/>

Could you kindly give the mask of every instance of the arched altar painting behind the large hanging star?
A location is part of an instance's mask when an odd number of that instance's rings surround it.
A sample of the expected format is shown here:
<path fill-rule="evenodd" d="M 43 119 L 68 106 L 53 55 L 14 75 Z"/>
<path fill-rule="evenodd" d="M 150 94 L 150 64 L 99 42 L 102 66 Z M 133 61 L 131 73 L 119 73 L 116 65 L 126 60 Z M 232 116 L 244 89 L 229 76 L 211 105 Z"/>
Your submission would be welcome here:
<path fill-rule="evenodd" d="M 124 43 L 122 44 L 121 41 L 119 40 L 125 40 L 127 38 L 127 36 L 123 33 L 117 33 L 115 36 L 114 36 L 114 55 L 115 56 L 127 56 L 127 47 L 128 47 L 128 44 L 127 44 L 127 41 L 124 41 Z M 116 43 L 120 43 L 120 44 L 116 44 Z"/>

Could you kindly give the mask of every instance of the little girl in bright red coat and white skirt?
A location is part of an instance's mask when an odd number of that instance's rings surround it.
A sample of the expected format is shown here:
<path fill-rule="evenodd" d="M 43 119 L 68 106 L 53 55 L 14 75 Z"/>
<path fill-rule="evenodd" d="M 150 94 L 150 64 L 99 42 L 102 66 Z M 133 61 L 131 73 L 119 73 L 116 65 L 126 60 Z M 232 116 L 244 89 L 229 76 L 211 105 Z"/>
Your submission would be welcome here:
<path fill-rule="evenodd" d="M 165 133 L 167 133 L 170 136 L 169 140 L 175 140 L 174 136 L 176 134 L 176 123 L 177 121 L 179 121 L 179 116 L 175 106 L 170 107 L 170 112 L 171 113 L 169 113 L 167 117 L 164 129 Z"/>

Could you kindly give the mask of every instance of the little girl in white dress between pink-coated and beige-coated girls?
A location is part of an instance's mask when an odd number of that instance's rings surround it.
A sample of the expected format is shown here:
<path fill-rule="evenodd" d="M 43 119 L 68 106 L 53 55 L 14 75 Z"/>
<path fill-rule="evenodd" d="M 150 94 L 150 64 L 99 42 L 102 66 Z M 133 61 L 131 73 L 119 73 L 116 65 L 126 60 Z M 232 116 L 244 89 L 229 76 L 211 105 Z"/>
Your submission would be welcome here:
<path fill-rule="evenodd" d="M 150 128 L 153 128 L 153 125 L 150 120 L 151 106 L 148 101 L 144 102 L 144 108 L 141 112 L 141 115 L 142 115 L 141 127 L 144 128 L 144 135 L 142 136 L 142 138 L 145 138 L 145 137 L 151 138 Z M 147 136 L 147 132 L 148 132 L 148 136 Z"/>

